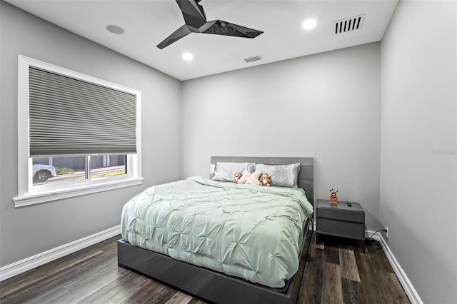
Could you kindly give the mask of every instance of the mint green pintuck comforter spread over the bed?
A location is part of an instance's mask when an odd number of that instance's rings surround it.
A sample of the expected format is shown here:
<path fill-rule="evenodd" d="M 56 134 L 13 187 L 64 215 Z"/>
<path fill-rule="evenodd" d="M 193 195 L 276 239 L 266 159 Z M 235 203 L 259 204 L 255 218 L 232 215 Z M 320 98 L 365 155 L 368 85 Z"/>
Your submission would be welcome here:
<path fill-rule="evenodd" d="M 154 186 L 122 211 L 122 238 L 176 260 L 281 288 L 298 270 L 313 206 L 301 188 L 192 177 Z"/>

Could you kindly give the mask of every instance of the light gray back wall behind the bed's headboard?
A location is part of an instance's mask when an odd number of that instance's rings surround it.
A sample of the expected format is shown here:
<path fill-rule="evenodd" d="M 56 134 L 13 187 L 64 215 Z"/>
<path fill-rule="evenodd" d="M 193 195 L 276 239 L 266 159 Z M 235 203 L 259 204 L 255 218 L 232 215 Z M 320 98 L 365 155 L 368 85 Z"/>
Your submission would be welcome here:
<path fill-rule="evenodd" d="M 311 156 L 315 198 L 338 188 L 378 216 L 379 44 L 183 83 L 183 175 L 211 156 Z M 369 227 L 369 226 L 368 226 Z"/>

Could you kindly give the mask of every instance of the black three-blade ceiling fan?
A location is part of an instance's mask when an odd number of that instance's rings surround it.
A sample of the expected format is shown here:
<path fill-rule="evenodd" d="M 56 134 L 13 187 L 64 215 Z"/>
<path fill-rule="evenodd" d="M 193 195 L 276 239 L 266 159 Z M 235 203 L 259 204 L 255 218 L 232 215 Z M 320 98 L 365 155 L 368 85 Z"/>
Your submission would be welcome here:
<path fill-rule="evenodd" d="M 225 36 L 236 36 L 245 38 L 256 38 L 263 33 L 256 29 L 249 29 L 246 26 L 231 24 L 222 20 L 206 21 L 206 14 L 203 6 L 199 4 L 201 0 L 176 0 L 184 16 L 184 26 L 174 31 L 157 47 L 164 49 L 166 46 L 173 44 L 179 39 L 191 33 L 216 34 Z"/>

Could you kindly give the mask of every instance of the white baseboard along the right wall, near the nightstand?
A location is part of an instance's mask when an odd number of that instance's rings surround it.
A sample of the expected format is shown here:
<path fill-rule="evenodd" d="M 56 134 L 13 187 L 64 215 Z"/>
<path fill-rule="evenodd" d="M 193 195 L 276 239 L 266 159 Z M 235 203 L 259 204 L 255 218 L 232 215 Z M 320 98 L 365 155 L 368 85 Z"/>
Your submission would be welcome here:
<path fill-rule="evenodd" d="M 367 230 L 366 233 L 368 233 L 368 235 L 371 236 L 374 233 L 374 231 Z M 391 248 L 388 247 L 388 244 L 387 244 L 386 240 L 383 238 L 383 236 L 380 233 L 374 233 L 373 238 L 375 240 L 378 240 L 379 243 L 381 243 L 381 247 L 383 248 L 384 253 L 386 253 L 388 262 L 391 264 L 391 266 L 393 268 L 393 272 L 397 275 L 397 278 L 400 281 L 401 285 L 403 286 L 403 289 L 405 290 L 406 295 L 408 295 L 408 298 L 411 301 L 411 303 L 412 304 L 423 304 L 421 298 L 419 297 L 418 293 L 416 292 L 416 289 L 414 289 L 413 284 L 408 279 L 408 276 L 403 271 L 403 268 L 401 268 L 401 265 L 398 263 L 398 260 L 393 255 Z"/>

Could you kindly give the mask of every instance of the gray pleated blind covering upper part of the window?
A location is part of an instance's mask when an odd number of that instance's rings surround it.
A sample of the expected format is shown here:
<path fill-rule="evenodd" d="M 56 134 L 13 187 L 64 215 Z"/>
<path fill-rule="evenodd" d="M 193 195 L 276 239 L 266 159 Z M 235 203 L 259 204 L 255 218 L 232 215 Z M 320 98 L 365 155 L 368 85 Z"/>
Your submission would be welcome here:
<path fill-rule="evenodd" d="M 136 95 L 29 66 L 30 156 L 136 153 Z"/>

